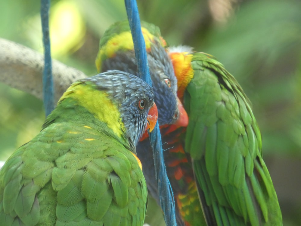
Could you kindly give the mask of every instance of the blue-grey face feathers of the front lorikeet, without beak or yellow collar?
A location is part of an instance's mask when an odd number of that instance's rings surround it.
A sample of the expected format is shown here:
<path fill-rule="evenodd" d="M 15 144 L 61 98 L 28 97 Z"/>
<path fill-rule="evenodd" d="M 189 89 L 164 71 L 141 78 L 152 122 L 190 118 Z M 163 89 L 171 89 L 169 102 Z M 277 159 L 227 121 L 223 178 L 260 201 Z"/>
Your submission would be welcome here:
<path fill-rule="evenodd" d="M 88 77 L 97 89 L 105 91 L 119 106 L 121 119 L 126 128 L 125 136 L 132 148 L 138 143 L 147 124 L 148 111 L 154 102 L 152 88 L 143 80 L 123 71 L 107 71 Z"/>

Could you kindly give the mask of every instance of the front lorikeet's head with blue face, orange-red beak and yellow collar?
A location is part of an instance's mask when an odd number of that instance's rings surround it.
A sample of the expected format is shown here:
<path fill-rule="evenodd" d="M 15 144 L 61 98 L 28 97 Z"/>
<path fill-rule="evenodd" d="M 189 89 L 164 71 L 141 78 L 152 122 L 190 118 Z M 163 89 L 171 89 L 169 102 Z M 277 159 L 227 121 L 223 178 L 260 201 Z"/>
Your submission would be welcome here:
<path fill-rule="evenodd" d="M 118 137 L 129 140 L 132 151 L 146 129 L 157 122 L 152 88 L 140 78 L 122 71 L 107 71 L 73 83 L 59 100 L 87 109 Z"/>

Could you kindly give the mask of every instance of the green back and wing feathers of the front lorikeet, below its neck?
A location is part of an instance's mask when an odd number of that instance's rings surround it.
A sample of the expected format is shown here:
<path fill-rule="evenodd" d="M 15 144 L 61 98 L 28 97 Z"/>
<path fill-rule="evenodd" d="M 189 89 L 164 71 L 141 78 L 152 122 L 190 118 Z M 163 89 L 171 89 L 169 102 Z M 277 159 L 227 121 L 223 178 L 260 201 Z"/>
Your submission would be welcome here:
<path fill-rule="evenodd" d="M 21 146 L 0 171 L 0 222 L 142 225 L 142 171 L 122 143 L 105 136 L 85 125 L 54 123 Z"/>

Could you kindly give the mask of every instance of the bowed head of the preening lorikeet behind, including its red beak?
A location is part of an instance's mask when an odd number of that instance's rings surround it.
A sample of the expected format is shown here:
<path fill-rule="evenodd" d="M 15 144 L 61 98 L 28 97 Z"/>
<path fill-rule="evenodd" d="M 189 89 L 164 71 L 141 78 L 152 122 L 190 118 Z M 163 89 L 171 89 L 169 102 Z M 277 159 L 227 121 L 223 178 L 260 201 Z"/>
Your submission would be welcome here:
<path fill-rule="evenodd" d="M 161 116 L 158 123 L 186 126 L 188 116 L 177 97 L 177 80 L 164 48 L 166 42 L 160 38 L 158 27 L 144 21 L 141 24 L 155 102 L 158 115 Z M 134 44 L 127 20 L 116 22 L 105 31 L 99 42 L 95 63 L 98 72 L 120 70 L 138 76 Z"/>

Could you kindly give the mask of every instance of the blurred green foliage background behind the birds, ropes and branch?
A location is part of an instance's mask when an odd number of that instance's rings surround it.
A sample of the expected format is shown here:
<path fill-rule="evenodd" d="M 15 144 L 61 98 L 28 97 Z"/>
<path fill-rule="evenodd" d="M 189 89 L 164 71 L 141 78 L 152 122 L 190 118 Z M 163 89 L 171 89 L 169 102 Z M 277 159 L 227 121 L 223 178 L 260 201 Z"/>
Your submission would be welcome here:
<path fill-rule="evenodd" d="M 0 37 L 42 53 L 39 2 L 0 0 Z M 170 46 L 212 54 L 237 78 L 253 103 L 284 225 L 301 225 L 301 2 L 137 2 L 141 19 L 159 26 Z M 123 0 L 51 1 L 53 58 L 95 75 L 99 38 L 125 19 Z M 41 100 L 1 83 L 0 105 L 5 160 L 39 132 L 44 110 Z M 147 215 L 151 225 L 164 225 L 152 200 Z"/>

